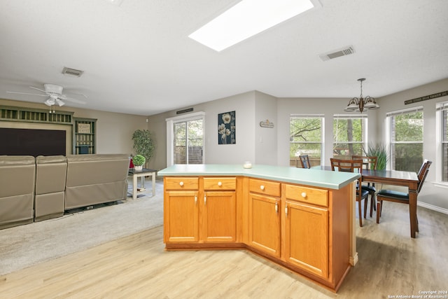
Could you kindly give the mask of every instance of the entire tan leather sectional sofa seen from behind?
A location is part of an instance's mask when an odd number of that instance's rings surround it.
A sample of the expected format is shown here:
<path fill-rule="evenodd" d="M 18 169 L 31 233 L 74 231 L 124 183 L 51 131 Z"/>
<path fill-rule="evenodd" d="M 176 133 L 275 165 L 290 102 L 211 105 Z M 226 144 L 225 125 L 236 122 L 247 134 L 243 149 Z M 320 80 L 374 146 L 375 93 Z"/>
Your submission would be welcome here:
<path fill-rule="evenodd" d="M 125 200 L 126 154 L 0 155 L 0 229 Z"/>

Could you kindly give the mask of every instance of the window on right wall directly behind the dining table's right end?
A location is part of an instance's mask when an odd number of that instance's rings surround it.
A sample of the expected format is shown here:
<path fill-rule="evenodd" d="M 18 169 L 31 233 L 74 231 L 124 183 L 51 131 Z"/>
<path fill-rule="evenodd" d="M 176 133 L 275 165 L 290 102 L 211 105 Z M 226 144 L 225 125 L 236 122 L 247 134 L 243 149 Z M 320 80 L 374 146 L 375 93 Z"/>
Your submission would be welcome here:
<path fill-rule="evenodd" d="M 423 162 L 423 108 L 387 113 L 391 169 L 418 172 Z"/>

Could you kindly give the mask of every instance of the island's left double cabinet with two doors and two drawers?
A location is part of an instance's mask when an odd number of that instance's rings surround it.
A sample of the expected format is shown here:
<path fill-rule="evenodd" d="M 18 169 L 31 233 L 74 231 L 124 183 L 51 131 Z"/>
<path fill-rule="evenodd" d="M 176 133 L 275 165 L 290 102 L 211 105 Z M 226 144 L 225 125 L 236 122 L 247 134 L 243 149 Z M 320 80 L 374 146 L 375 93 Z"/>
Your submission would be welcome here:
<path fill-rule="evenodd" d="M 166 243 L 235 242 L 235 177 L 169 177 L 164 183 Z"/>

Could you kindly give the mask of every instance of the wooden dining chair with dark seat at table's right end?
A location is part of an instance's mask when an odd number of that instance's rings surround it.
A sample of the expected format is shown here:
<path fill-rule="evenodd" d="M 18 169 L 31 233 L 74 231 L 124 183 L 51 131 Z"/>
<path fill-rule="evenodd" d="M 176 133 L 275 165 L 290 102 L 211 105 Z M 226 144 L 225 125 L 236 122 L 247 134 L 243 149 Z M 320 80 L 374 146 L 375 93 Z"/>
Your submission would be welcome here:
<path fill-rule="evenodd" d="M 432 161 L 424 160 L 423 164 L 420 167 L 419 174 L 417 174 L 419 178 L 419 184 L 417 185 L 417 194 L 420 193 L 421 187 L 423 187 L 423 183 L 428 175 L 429 167 L 432 164 Z M 379 217 L 381 216 L 381 211 L 383 209 L 383 202 L 400 202 L 402 204 L 409 204 L 409 193 L 404 193 L 395 190 L 379 190 L 377 193 L 377 223 L 379 223 Z M 419 231 L 419 218 L 417 220 L 417 229 Z"/>

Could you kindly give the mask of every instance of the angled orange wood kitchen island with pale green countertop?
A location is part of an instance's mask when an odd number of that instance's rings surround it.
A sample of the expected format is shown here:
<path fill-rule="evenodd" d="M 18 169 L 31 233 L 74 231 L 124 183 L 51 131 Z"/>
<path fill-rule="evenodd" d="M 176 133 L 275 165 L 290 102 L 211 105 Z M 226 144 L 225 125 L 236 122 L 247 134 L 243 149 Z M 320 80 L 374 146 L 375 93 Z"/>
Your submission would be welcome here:
<path fill-rule="evenodd" d="M 173 165 L 158 175 L 167 250 L 247 249 L 332 291 L 356 263 L 359 174 Z"/>

